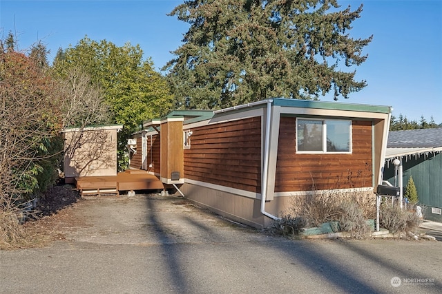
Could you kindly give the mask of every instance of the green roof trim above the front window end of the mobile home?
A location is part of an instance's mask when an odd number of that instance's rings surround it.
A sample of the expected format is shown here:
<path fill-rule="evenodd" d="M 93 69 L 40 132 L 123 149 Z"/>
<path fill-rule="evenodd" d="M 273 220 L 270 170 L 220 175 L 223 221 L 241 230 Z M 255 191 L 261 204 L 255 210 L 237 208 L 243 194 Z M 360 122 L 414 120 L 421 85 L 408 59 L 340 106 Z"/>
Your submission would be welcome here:
<path fill-rule="evenodd" d="M 299 100 L 299 99 L 288 99 L 288 98 L 271 98 L 271 99 L 273 100 L 273 105 L 284 106 L 284 107 L 348 110 L 353 112 L 374 112 L 381 114 L 389 114 L 392 112 L 391 106 L 382 106 L 382 105 Z"/>

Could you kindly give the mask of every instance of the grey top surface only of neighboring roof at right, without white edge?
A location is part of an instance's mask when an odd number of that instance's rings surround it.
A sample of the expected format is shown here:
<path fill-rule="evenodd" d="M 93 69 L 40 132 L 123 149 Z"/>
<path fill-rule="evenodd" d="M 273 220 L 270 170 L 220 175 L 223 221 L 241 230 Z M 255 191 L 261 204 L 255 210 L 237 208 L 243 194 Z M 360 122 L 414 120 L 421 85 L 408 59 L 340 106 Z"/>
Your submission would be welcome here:
<path fill-rule="evenodd" d="M 388 134 L 387 148 L 422 148 L 441 146 L 441 127 L 437 129 L 407 129 L 405 131 L 392 131 Z"/>

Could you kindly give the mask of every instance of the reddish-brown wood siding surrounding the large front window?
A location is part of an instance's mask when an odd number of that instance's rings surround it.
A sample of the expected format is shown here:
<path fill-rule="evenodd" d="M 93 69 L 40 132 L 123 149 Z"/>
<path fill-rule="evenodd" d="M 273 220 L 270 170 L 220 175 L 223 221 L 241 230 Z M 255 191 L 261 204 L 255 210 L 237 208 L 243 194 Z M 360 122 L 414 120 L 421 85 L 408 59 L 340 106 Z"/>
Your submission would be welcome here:
<path fill-rule="evenodd" d="M 275 191 L 371 187 L 372 122 L 353 120 L 352 135 L 352 154 L 296 154 L 296 118 L 282 117 Z"/>

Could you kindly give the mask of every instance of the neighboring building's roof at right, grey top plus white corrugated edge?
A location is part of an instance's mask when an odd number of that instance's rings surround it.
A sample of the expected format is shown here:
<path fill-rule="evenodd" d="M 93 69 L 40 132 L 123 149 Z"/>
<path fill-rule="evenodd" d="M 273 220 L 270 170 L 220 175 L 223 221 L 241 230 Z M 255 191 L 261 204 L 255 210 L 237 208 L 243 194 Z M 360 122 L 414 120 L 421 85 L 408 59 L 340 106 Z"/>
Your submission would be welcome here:
<path fill-rule="evenodd" d="M 442 151 L 442 128 L 407 129 L 388 134 L 385 159 Z"/>

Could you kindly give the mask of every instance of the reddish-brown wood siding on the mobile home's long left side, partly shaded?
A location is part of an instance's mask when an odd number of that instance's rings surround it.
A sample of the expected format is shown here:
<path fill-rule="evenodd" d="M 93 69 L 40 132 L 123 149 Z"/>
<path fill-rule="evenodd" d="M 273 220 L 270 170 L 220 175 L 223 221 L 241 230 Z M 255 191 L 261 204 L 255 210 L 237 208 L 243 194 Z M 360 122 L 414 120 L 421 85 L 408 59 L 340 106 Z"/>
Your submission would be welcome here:
<path fill-rule="evenodd" d="M 192 129 L 184 149 L 184 176 L 260 192 L 261 118 L 253 117 Z"/>

